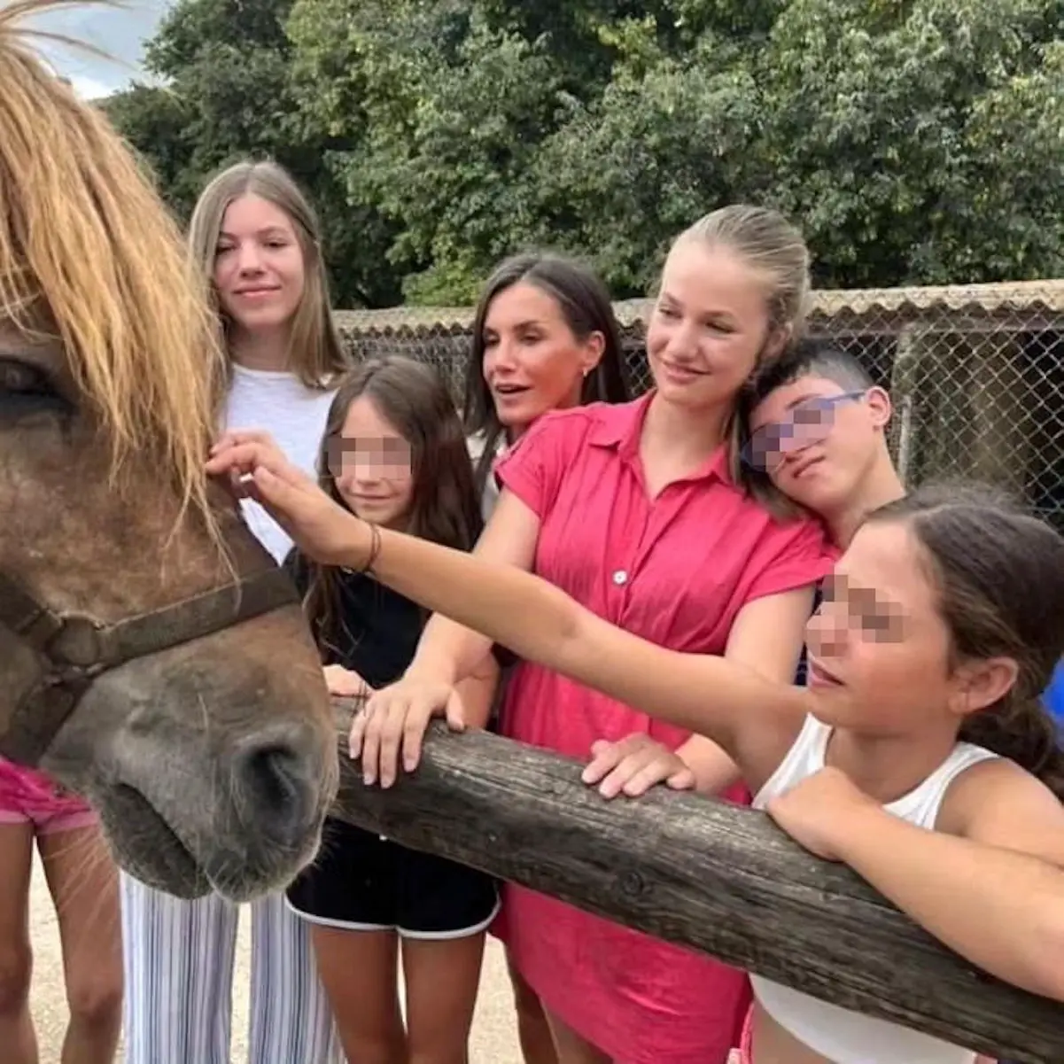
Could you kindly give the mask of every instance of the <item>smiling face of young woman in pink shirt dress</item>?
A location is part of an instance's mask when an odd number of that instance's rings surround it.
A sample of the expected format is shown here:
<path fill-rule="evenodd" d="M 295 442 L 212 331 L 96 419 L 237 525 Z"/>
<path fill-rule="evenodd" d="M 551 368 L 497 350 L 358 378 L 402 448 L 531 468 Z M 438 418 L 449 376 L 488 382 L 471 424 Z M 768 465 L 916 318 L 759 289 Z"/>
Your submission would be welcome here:
<path fill-rule="evenodd" d="M 669 252 L 647 327 L 662 398 L 695 410 L 728 408 L 770 336 L 766 282 L 724 247 L 681 240 Z"/>

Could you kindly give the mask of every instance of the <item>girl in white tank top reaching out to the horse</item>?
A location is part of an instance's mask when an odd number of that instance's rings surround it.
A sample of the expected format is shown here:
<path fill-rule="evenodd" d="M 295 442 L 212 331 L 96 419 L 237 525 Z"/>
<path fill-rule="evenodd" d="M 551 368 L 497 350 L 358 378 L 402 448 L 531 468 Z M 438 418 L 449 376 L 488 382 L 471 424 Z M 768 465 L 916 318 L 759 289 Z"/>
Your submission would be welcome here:
<path fill-rule="evenodd" d="M 223 440 L 209 469 L 251 472 L 311 556 L 371 565 L 522 659 L 710 736 L 808 850 L 975 966 L 1064 1002 L 1064 755 L 1037 700 L 1064 654 L 1064 539 L 1048 525 L 955 487 L 877 511 L 810 620 L 800 688 L 641 639 L 527 572 L 371 533 L 268 445 Z M 401 715 L 382 695 L 373 712 Z M 744 1064 L 976 1060 L 769 980 L 753 990 Z"/>

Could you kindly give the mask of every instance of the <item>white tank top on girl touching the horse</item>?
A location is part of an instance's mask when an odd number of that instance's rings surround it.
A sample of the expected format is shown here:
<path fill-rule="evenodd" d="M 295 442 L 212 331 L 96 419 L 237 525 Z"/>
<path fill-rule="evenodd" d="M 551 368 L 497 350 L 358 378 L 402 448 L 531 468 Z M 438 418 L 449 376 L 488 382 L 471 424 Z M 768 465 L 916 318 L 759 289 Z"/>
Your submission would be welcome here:
<path fill-rule="evenodd" d="M 764 809 L 770 798 L 824 768 L 830 735 L 828 725 L 808 716 L 794 746 L 754 797 L 753 808 Z M 980 746 L 958 743 L 918 787 L 883 808 L 910 824 L 933 830 L 950 783 L 966 768 L 996 757 Z M 750 984 L 758 1002 L 780 1027 L 833 1064 L 974 1064 L 976 1060 L 970 1049 L 841 1009 L 761 976 L 751 975 Z"/>

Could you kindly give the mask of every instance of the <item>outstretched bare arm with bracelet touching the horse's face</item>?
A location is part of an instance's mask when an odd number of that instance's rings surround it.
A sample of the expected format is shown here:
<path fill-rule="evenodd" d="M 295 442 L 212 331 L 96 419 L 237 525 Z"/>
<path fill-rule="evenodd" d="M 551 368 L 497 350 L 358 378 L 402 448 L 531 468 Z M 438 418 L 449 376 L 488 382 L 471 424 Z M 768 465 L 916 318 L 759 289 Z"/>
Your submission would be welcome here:
<path fill-rule="evenodd" d="M 520 656 L 710 736 L 752 784 L 775 767 L 807 710 L 802 691 L 721 658 L 659 647 L 529 572 L 360 521 L 263 434 L 231 434 L 216 445 L 207 470 L 235 475 L 307 554 L 352 569 L 368 565 L 400 595 Z M 755 742 L 744 738 L 753 735 Z"/>

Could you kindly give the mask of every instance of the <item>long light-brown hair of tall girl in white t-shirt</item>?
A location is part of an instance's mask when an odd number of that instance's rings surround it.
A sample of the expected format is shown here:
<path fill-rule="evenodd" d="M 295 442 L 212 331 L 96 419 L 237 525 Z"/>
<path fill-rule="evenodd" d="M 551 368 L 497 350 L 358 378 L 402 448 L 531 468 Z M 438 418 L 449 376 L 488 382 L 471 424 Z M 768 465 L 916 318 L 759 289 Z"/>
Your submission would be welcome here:
<path fill-rule="evenodd" d="M 288 364 L 310 388 L 327 389 L 350 367 L 332 317 L 329 278 L 321 257 L 317 216 L 292 176 L 275 162 L 245 161 L 215 174 L 200 194 L 188 223 L 188 247 L 209 281 L 214 277 L 218 237 L 229 205 L 242 196 L 257 196 L 292 220 L 303 252 L 304 287 L 288 339 Z M 225 338 L 229 321 L 211 284 L 215 312 Z"/>

